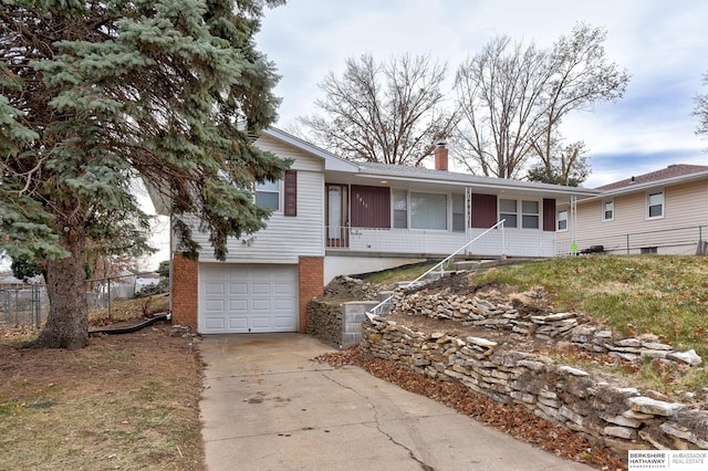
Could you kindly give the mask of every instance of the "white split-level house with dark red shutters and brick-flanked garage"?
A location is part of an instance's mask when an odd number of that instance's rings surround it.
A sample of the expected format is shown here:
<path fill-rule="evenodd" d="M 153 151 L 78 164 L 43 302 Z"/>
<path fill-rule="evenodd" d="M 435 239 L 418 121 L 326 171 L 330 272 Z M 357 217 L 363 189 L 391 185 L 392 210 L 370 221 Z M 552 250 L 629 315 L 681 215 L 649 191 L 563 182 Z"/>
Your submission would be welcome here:
<path fill-rule="evenodd" d="M 304 332 L 308 302 L 339 274 L 442 259 L 504 219 L 475 242 L 477 257 L 552 257 L 556 208 L 596 190 L 447 171 L 357 164 L 278 129 L 256 144 L 293 164 L 283 181 L 256 188 L 273 209 L 268 227 L 231 240 L 226 262 L 208 236 L 198 261 L 171 248 L 173 318 L 199 333 Z M 158 211 L 167 205 L 153 196 Z"/>

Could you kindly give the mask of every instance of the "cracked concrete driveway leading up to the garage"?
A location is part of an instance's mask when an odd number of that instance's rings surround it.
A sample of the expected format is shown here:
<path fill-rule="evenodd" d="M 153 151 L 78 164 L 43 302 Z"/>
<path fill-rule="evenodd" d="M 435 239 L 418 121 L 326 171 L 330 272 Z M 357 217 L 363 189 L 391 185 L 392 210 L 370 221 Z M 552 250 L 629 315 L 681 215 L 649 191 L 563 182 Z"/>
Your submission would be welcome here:
<path fill-rule="evenodd" d="M 200 401 L 216 470 L 590 470 L 356 367 L 300 334 L 210 335 Z"/>

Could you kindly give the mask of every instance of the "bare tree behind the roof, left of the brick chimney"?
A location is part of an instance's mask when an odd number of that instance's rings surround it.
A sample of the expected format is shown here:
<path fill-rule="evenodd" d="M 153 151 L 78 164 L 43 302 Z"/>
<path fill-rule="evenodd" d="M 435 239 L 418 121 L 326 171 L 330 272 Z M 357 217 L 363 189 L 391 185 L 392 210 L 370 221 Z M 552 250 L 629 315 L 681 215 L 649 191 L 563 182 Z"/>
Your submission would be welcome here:
<path fill-rule="evenodd" d="M 455 115 L 442 108 L 447 66 L 405 54 L 376 63 L 348 59 L 343 75 L 320 84 L 321 114 L 300 117 L 310 139 L 353 160 L 418 165 L 447 136 Z"/>

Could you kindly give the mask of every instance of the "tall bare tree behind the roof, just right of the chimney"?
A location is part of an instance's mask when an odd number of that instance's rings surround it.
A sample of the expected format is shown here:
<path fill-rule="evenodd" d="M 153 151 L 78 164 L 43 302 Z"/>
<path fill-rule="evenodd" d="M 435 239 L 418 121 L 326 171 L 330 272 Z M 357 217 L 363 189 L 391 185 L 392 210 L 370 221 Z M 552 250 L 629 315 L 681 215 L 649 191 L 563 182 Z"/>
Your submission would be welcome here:
<path fill-rule="evenodd" d="M 540 135 L 546 53 L 496 38 L 458 69 L 455 90 L 462 119 L 456 153 L 472 174 L 517 177 Z"/>

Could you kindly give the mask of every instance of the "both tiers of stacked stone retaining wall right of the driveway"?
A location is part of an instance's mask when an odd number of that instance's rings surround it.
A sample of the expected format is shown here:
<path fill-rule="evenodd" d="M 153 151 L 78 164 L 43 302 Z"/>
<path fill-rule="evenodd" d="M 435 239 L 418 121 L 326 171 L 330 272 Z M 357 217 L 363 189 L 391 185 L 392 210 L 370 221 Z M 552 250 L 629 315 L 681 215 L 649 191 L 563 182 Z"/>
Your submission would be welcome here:
<path fill-rule="evenodd" d="M 504 329 L 510 335 L 563 341 L 623 360 L 649 357 L 698 365 L 693 352 L 677 352 L 652 338 L 614 338 L 608 328 L 573 313 L 525 312 L 512 303 L 476 296 L 397 293 L 394 311 L 462 324 Z M 652 391 L 622 387 L 548 355 L 523 352 L 483 338 L 421 333 L 367 315 L 362 347 L 374 357 L 405 364 L 445 381 L 459 381 L 477 394 L 518 404 L 534 415 L 584 433 L 592 443 L 620 453 L 641 449 L 708 449 L 708 411 L 700 405 L 657 398 Z"/>

